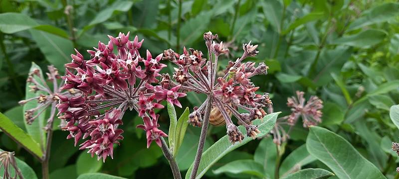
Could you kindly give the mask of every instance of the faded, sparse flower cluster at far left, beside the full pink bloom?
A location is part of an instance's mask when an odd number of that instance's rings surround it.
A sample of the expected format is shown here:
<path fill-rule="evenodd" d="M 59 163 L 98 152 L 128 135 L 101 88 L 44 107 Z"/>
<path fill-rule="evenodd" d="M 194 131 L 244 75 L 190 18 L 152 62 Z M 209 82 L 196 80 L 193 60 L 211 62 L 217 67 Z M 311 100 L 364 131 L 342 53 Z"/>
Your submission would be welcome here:
<path fill-rule="evenodd" d="M 28 109 L 24 113 L 24 117 L 27 124 L 31 124 L 38 116 L 40 116 L 43 112 L 46 111 L 48 107 L 51 108 L 50 116 L 47 120 L 46 130 L 50 130 L 52 127 L 52 121 L 56 112 L 56 104 L 58 103 L 59 97 L 58 93 L 61 93 L 65 96 L 74 96 L 76 92 L 73 90 L 63 91 L 60 90 L 60 85 L 58 85 L 57 80 L 60 79 L 60 75 L 58 74 L 58 69 L 54 66 L 50 65 L 47 67 L 48 73 L 47 81 L 44 80 L 44 77 L 41 74 L 41 71 L 37 68 L 31 70 L 28 74 L 28 78 L 26 82 L 29 84 L 29 90 L 36 93 L 37 96 L 34 96 L 29 99 L 19 101 L 20 105 L 24 105 L 28 102 L 36 101 L 37 106 Z M 52 84 L 52 88 L 47 85 L 47 82 Z"/>

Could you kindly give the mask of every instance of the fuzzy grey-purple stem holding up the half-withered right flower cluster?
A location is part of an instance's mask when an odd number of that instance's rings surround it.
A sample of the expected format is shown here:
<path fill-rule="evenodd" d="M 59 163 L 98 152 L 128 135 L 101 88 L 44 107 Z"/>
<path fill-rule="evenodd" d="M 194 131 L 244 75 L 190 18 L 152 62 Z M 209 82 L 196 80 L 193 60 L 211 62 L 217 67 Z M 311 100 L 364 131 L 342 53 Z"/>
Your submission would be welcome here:
<path fill-rule="evenodd" d="M 200 135 L 200 142 L 198 143 L 197 155 L 196 159 L 194 160 L 193 170 L 191 172 L 190 179 L 195 179 L 197 177 L 198 167 L 200 167 L 200 161 L 202 157 L 203 145 L 205 144 L 206 133 L 208 130 L 209 124 L 209 116 L 210 116 L 210 109 L 212 108 L 212 99 L 208 98 L 205 108 L 205 115 L 203 117 L 201 135 Z"/>

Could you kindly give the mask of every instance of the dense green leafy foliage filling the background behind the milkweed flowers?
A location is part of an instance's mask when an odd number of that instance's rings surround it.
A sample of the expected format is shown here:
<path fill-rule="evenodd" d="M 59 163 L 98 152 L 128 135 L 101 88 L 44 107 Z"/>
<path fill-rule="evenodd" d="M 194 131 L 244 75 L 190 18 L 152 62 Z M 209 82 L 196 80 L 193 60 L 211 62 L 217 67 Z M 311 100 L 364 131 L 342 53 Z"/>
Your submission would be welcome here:
<path fill-rule="evenodd" d="M 289 114 L 286 100 L 296 90 L 320 96 L 325 107 L 324 129 L 294 127 L 279 170 L 275 144 L 265 137 L 228 153 L 204 177 L 274 178 L 276 172 L 291 178 L 329 177 L 330 172 L 335 175 L 331 178 L 343 179 L 362 178 L 358 174 L 399 177 L 398 155 L 391 150 L 399 136 L 398 106 L 392 107 L 390 119 L 391 106 L 399 102 L 396 0 L 0 0 L 0 12 L 0 111 L 25 131 L 31 127 L 24 125 L 17 101 L 24 99 L 31 62 L 42 69 L 54 64 L 63 73 L 73 48 L 83 52 L 120 31 L 144 38 L 142 50 L 153 54 L 167 48 L 182 52 L 183 46 L 205 52 L 202 34 L 210 30 L 231 51 L 220 60 L 222 66 L 240 55 L 242 43 L 259 44 L 259 54 L 251 60 L 270 69 L 252 81 L 271 93 L 280 116 Z M 182 104 L 192 109 L 201 97 L 189 93 Z M 184 109 L 176 109 L 178 116 Z M 160 113 L 161 128 L 168 131 L 168 112 Z M 135 128 L 142 122 L 137 114 L 126 114 L 124 121 L 125 140 L 104 164 L 73 147 L 65 132 L 55 131 L 50 177 L 87 178 L 87 173 L 100 172 L 171 178 L 161 149 L 147 149 L 144 132 Z M 224 127 L 209 130 L 205 148 L 225 135 Z M 199 134 L 200 128 L 187 127 L 177 155 L 183 176 L 194 160 Z M 1 149 L 15 151 L 24 175 L 40 178 L 34 157 L 4 133 L 0 140 Z M 288 176 L 301 168 L 319 169 Z M 104 177 L 97 175 L 91 177 Z"/>

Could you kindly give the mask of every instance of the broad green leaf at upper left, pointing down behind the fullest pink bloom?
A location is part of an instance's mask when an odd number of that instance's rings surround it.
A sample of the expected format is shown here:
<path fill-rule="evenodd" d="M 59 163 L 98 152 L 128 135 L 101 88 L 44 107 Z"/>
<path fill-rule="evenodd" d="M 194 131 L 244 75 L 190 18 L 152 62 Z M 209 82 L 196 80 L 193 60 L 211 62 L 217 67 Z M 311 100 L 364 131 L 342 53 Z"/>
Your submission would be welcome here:
<path fill-rule="evenodd" d="M 64 72 L 64 65 L 71 61 L 72 41 L 43 31 L 34 29 L 29 31 L 46 60 L 53 64 L 61 73 Z"/>

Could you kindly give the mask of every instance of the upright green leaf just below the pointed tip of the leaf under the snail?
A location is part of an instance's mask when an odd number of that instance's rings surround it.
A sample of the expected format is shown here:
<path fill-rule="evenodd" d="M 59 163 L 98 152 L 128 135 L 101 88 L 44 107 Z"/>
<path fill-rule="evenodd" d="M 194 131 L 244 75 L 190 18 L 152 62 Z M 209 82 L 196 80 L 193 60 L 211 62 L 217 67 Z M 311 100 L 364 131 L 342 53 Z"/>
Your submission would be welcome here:
<path fill-rule="evenodd" d="M 273 143 L 273 139 L 271 137 L 262 139 L 262 141 L 260 141 L 258 147 L 255 150 L 253 158 L 255 162 L 262 166 L 262 174 L 266 176 L 266 178 L 274 178 L 276 156 L 277 148 L 276 144 Z"/>

